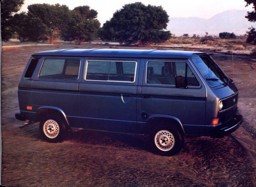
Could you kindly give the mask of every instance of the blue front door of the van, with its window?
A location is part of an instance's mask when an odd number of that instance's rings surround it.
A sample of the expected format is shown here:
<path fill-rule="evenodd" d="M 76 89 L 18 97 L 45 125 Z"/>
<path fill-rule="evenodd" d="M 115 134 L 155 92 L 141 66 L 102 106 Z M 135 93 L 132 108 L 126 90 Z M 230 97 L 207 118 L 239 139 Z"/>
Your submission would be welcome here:
<path fill-rule="evenodd" d="M 175 87 L 175 77 L 182 76 L 183 85 Z M 196 78 L 185 60 L 146 59 L 142 84 L 142 115 L 173 116 L 180 120 L 186 133 L 204 125 L 206 88 Z M 142 119 L 146 121 L 147 119 Z M 203 134 L 197 132 L 197 134 Z"/>

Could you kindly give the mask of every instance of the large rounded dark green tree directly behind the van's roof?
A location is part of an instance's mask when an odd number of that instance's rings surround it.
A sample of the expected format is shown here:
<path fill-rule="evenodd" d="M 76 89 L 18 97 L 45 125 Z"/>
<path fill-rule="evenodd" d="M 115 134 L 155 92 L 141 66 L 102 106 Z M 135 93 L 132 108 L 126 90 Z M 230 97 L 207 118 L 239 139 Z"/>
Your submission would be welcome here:
<path fill-rule="evenodd" d="M 164 31 L 168 17 L 161 6 L 126 4 L 113 14 L 106 32 L 113 32 L 120 44 L 161 43 L 171 37 L 169 31 Z"/>

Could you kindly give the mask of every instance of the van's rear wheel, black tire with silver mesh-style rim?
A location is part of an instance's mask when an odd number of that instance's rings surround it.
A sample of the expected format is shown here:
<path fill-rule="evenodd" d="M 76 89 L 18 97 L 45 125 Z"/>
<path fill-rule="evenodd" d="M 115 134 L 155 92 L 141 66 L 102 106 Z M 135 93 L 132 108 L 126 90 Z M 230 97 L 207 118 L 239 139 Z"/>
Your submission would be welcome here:
<path fill-rule="evenodd" d="M 67 135 L 65 123 L 59 116 L 46 116 L 40 121 L 39 131 L 46 142 L 61 142 Z"/>

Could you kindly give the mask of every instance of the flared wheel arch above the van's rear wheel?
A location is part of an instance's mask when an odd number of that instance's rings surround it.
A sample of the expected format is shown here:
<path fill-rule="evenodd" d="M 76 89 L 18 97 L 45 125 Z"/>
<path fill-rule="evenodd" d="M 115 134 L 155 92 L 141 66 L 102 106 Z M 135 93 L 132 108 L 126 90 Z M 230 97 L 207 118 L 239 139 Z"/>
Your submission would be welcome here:
<path fill-rule="evenodd" d="M 42 118 L 44 118 L 46 115 L 58 115 L 61 118 L 63 118 L 65 125 L 70 128 L 67 116 L 65 115 L 64 111 L 61 110 L 58 107 L 51 107 L 51 106 L 43 106 L 39 107 L 37 110 L 37 116 L 36 120 L 40 121 Z"/>

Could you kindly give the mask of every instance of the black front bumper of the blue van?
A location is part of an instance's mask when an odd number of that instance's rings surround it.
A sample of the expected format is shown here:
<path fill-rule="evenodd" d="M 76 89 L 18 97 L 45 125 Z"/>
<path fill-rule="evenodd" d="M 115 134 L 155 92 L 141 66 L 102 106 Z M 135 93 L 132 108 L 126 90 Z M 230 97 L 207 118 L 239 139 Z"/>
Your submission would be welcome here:
<path fill-rule="evenodd" d="M 242 123 L 242 116 L 236 115 L 232 120 L 227 123 L 224 123 L 220 126 L 216 126 L 210 131 L 210 136 L 212 138 L 223 138 L 224 136 L 231 134 L 240 127 Z"/>

